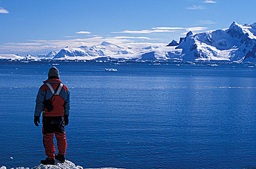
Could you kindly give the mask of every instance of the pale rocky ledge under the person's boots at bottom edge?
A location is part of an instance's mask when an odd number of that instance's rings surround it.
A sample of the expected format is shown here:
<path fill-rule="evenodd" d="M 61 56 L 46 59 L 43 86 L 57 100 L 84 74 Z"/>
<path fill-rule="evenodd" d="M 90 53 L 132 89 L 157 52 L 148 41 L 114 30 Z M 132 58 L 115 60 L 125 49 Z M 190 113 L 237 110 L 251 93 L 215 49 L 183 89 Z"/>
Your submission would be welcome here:
<path fill-rule="evenodd" d="M 6 169 L 5 166 L 0 167 L 0 169 Z M 24 167 L 12 168 L 12 169 L 29 169 Z M 64 163 L 57 163 L 56 165 L 39 165 L 33 167 L 32 169 L 83 169 L 81 166 L 76 166 L 71 161 L 65 161 Z M 97 168 L 97 169 L 117 169 L 117 168 Z"/>

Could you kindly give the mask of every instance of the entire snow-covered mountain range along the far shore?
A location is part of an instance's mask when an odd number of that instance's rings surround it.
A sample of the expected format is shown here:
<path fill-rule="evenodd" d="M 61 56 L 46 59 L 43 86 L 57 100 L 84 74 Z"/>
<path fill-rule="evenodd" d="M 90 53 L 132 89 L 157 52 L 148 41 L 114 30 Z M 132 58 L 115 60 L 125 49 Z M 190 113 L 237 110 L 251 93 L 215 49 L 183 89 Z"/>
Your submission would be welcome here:
<path fill-rule="evenodd" d="M 130 60 L 186 62 L 252 62 L 256 63 L 256 23 L 194 34 L 189 31 L 179 42 L 144 48 L 122 47 L 110 42 L 94 46 L 68 47 L 43 55 L 0 55 L 11 60 Z"/>

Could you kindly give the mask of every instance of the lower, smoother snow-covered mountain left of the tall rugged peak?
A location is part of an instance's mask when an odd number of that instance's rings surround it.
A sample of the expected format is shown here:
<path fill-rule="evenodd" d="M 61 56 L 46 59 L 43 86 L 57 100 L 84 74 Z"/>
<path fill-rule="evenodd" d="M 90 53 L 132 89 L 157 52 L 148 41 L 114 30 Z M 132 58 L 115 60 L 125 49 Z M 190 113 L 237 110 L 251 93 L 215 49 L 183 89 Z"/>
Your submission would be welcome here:
<path fill-rule="evenodd" d="M 58 60 L 108 60 L 109 58 L 113 59 L 138 59 L 141 54 L 157 49 L 158 46 L 147 46 L 144 48 L 125 48 L 110 42 L 102 42 L 99 45 L 94 45 L 91 47 L 88 46 L 79 46 L 79 47 L 68 47 L 61 49 L 59 52 L 51 51 L 48 54 L 40 55 L 26 55 L 24 57 L 19 56 L 19 59 L 33 59 L 33 60 L 42 60 L 42 59 L 58 59 Z M 14 55 L 12 55 L 14 56 Z M 2 56 L 0 59 L 8 59 L 10 56 Z M 15 57 L 17 59 L 17 56 Z"/>

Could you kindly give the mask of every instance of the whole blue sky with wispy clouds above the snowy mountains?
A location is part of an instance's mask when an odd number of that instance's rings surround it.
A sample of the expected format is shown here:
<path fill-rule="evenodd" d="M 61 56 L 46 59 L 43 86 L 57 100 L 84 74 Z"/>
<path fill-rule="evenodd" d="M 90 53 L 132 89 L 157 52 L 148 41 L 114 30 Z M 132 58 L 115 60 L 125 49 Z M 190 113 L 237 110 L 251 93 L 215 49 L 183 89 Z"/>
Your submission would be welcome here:
<path fill-rule="evenodd" d="M 256 22 L 256 0 L 0 0 L 0 54 L 44 54 L 102 41 L 148 46 L 189 30 Z"/>

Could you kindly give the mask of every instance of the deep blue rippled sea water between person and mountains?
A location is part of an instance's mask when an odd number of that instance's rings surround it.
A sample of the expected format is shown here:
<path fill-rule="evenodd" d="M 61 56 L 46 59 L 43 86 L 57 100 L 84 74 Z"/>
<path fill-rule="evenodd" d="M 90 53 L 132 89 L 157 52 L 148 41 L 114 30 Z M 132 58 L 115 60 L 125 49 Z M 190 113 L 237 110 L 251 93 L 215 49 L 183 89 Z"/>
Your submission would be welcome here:
<path fill-rule="evenodd" d="M 255 65 L 57 63 L 71 96 L 66 159 L 76 165 L 256 167 Z M 46 157 L 33 112 L 51 66 L 0 61 L 0 166 Z"/>

